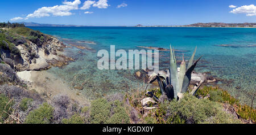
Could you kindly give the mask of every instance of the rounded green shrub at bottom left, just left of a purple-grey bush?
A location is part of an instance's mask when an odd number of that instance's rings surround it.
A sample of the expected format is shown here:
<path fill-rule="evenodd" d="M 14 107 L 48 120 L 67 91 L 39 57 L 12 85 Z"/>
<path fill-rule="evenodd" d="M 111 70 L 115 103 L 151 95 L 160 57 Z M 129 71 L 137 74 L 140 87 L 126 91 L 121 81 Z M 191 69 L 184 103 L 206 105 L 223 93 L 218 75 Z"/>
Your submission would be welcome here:
<path fill-rule="evenodd" d="M 48 124 L 53 117 L 53 107 L 48 103 L 43 103 L 39 108 L 28 114 L 24 123 L 27 124 Z"/>

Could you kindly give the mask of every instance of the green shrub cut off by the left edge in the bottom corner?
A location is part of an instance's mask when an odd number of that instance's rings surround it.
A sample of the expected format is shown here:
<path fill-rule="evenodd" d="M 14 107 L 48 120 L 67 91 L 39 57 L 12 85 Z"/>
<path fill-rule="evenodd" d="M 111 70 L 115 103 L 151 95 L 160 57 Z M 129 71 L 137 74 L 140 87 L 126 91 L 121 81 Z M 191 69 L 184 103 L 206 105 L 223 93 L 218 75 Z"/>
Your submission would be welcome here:
<path fill-rule="evenodd" d="M 0 94 L 0 123 L 3 123 L 3 121 L 9 117 L 8 114 L 13 110 L 13 108 L 11 108 L 13 104 L 14 102 L 10 101 L 8 97 Z"/>

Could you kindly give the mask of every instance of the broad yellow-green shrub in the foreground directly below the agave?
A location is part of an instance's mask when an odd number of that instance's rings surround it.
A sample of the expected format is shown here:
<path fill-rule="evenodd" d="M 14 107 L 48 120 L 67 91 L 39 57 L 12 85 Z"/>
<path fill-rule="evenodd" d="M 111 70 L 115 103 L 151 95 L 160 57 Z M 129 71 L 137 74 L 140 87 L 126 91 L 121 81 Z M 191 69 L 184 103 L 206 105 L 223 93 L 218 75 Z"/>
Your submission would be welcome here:
<path fill-rule="evenodd" d="M 227 117 L 222 104 L 212 102 L 209 99 L 197 99 L 191 95 L 185 94 L 181 101 L 164 102 L 159 105 L 162 113 L 165 114 L 168 123 L 204 123 L 206 120 L 209 123 L 216 121 L 230 121 L 233 117 Z"/>

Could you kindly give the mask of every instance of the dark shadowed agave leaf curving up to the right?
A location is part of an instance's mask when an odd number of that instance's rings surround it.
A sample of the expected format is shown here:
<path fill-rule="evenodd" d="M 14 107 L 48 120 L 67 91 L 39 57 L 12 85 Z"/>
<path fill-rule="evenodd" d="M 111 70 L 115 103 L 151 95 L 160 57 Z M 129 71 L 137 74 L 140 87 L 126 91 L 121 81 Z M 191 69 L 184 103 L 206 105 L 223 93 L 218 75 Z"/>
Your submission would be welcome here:
<path fill-rule="evenodd" d="M 201 58 L 202 56 L 199 59 L 197 59 L 196 62 L 190 68 L 187 69 L 187 72 L 185 73 L 184 76 L 181 93 L 187 92 L 189 83 L 191 81 L 191 73 L 195 69 L 197 62 L 199 62 Z"/>

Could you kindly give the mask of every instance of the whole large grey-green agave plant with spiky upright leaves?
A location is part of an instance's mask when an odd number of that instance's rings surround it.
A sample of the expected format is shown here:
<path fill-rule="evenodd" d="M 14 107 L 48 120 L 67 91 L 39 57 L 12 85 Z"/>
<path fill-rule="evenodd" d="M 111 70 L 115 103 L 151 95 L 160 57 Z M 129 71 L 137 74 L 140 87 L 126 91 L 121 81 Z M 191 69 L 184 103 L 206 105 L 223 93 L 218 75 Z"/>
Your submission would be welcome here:
<path fill-rule="evenodd" d="M 180 64 L 180 71 L 178 72 L 174 50 L 170 45 L 170 68 L 168 69 L 167 73 L 163 71 L 160 71 L 158 73 L 152 73 L 150 75 L 148 84 L 157 80 L 162 94 L 166 94 L 167 97 L 171 100 L 174 98 L 181 99 L 183 97 L 183 93 L 186 93 L 188 90 L 188 86 L 191 81 L 191 73 L 195 69 L 197 62 L 199 62 L 199 60 L 201 59 L 200 57 L 196 60 L 195 63 L 193 63 L 195 54 L 196 49 L 191 56 L 191 59 L 189 60 L 187 69 L 183 55 L 183 60 Z M 200 82 L 200 84 L 197 85 L 189 93 L 194 95 L 202 83 L 203 81 Z"/>

